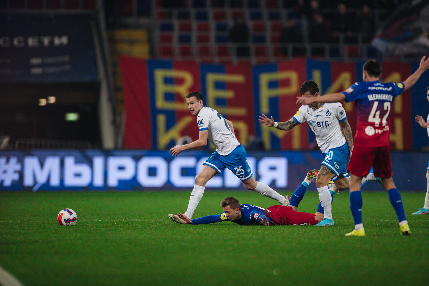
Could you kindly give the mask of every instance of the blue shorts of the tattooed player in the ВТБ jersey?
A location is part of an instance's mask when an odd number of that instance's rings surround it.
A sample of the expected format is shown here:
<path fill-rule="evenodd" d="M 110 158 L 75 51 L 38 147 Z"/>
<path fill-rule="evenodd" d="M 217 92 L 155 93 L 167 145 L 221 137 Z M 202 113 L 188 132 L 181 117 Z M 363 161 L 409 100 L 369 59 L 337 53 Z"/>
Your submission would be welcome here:
<path fill-rule="evenodd" d="M 350 157 L 350 149 L 347 142 L 340 147 L 329 149 L 323 155 L 325 158 L 322 161 L 322 165 L 328 167 L 334 173 L 332 181 L 337 181 L 340 175 L 343 177 L 349 176 L 346 165 Z"/>

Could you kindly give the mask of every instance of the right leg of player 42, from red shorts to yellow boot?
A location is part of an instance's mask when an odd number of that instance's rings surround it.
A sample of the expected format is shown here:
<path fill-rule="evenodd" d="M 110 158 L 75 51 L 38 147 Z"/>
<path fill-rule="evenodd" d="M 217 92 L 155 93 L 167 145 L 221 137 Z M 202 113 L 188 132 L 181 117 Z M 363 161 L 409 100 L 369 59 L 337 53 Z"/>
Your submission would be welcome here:
<path fill-rule="evenodd" d="M 390 159 L 390 147 L 382 146 L 377 148 L 376 158 L 373 163 L 374 173 L 381 177 L 383 186 L 387 190 L 390 204 L 393 206 L 398 217 L 401 235 L 410 235 L 410 228 L 405 217 L 404 205 L 399 190 L 393 182 L 392 160 Z"/>

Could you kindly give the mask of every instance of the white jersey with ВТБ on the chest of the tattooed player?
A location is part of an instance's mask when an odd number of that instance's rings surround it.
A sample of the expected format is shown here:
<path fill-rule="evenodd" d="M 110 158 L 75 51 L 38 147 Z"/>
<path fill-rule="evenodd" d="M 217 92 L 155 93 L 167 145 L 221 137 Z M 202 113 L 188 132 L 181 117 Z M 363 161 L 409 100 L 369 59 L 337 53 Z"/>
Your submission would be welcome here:
<path fill-rule="evenodd" d="M 340 122 L 346 120 L 347 115 L 339 102 L 323 103 L 319 109 L 302 105 L 292 118 L 298 124 L 307 121 L 316 134 L 320 151 L 324 154 L 329 149 L 340 147 L 346 142 Z"/>

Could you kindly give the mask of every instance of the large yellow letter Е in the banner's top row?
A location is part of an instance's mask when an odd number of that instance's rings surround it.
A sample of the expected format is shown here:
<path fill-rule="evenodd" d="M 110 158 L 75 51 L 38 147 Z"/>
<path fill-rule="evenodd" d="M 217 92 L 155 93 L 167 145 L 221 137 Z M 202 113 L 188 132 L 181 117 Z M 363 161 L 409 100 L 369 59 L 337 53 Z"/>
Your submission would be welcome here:
<path fill-rule="evenodd" d="M 208 72 L 206 75 L 207 86 L 207 106 L 217 110 L 220 114 L 246 115 L 244 107 L 227 107 L 216 105 L 217 98 L 234 98 L 234 91 L 227 89 L 217 89 L 216 82 L 245 82 L 245 76 L 241 74 L 214 73 Z"/>

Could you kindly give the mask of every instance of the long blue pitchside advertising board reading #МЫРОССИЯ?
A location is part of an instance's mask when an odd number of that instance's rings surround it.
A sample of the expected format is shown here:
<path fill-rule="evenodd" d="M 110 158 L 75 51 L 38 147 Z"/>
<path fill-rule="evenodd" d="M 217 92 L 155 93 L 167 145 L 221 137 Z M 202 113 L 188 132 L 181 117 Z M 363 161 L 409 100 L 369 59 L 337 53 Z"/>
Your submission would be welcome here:
<path fill-rule="evenodd" d="M 207 151 L 187 151 L 177 157 L 168 151 L 148 150 L 0 151 L 0 191 L 191 190 L 208 156 Z M 319 151 L 247 152 L 254 178 L 279 192 L 295 190 L 309 169 L 320 167 L 322 158 Z M 399 190 L 426 190 L 428 158 L 417 152 L 392 153 Z M 404 162 L 410 161 L 413 168 L 404 168 Z M 206 187 L 245 190 L 228 169 Z M 315 190 L 314 184 L 309 190 Z M 363 190 L 383 189 L 367 183 Z"/>

